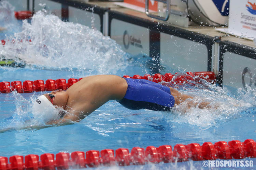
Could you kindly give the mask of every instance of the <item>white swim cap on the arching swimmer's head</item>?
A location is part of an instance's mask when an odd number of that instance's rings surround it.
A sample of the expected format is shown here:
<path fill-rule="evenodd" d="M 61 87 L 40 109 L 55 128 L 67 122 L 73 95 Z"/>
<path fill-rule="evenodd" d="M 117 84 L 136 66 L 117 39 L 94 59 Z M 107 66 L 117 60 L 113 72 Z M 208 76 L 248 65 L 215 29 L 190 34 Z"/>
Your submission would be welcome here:
<path fill-rule="evenodd" d="M 35 119 L 41 118 L 44 122 L 58 118 L 58 110 L 44 95 L 34 102 L 32 114 Z"/>

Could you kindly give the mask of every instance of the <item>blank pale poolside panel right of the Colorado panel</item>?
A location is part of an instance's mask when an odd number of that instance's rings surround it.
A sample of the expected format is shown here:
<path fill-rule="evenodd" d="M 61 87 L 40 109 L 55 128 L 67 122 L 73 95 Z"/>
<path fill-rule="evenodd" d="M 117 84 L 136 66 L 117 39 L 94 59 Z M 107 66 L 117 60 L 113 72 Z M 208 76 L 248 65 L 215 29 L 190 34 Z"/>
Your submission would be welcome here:
<path fill-rule="evenodd" d="M 161 64 L 181 71 L 207 71 L 208 50 L 204 44 L 160 33 Z"/>

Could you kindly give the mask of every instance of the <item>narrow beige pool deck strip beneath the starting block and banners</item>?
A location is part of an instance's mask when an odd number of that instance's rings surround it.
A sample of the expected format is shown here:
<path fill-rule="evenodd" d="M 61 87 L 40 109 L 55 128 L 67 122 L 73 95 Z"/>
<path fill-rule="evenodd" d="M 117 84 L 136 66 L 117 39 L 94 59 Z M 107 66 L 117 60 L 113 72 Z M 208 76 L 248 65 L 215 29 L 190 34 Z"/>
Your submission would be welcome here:
<path fill-rule="evenodd" d="M 80 1 L 81 2 L 86 2 L 85 0 L 80 0 Z M 248 47 L 256 48 L 256 45 L 255 45 L 254 41 L 251 40 L 251 39 L 246 39 L 246 38 L 241 38 L 241 37 L 238 37 L 238 36 L 229 35 L 229 34 L 222 33 L 222 32 L 219 32 L 218 30 L 216 30 L 216 28 L 219 29 L 219 28 L 222 28 L 222 27 L 205 27 L 205 26 L 201 27 L 197 24 L 193 24 L 193 25 L 189 26 L 188 28 L 185 28 L 185 27 L 180 27 L 180 26 L 176 26 L 174 24 L 171 24 L 168 21 L 161 21 L 161 20 L 158 20 L 158 19 L 150 18 L 143 12 L 139 12 L 139 11 L 136 11 L 136 10 L 132 10 L 130 8 L 125 8 L 125 7 L 116 5 L 115 2 L 101 2 L 101 1 L 90 2 L 89 1 L 89 2 L 86 2 L 86 3 L 91 4 L 91 5 L 96 5 L 96 6 L 101 7 L 101 8 L 108 8 L 109 10 L 111 10 L 113 12 L 119 12 L 119 13 L 123 13 L 123 14 L 126 14 L 126 15 L 131 15 L 131 16 L 138 17 L 138 18 L 141 18 L 141 19 L 145 19 L 147 21 L 159 22 L 159 23 L 162 23 L 162 24 L 166 24 L 168 26 L 184 29 L 184 30 L 187 30 L 187 31 L 190 31 L 190 32 L 196 32 L 196 33 L 199 33 L 199 34 L 207 35 L 207 36 L 212 37 L 212 38 L 221 37 L 222 41 L 231 41 L 233 43 L 237 43 L 237 44 L 245 45 L 245 46 L 248 46 Z"/>

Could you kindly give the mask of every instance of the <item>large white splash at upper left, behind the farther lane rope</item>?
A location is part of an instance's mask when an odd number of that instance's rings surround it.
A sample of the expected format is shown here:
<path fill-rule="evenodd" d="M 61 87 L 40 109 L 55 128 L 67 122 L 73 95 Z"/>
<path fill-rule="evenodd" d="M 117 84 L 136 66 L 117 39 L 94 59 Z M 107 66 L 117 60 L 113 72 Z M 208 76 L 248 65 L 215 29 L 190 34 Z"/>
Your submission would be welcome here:
<path fill-rule="evenodd" d="M 21 59 L 39 68 L 77 68 L 94 74 L 115 73 L 126 67 L 126 53 L 110 37 L 89 27 L 63 22 L 43 12 L 35 14 L 31 24 L 0 47 L 8 58 Z"/>

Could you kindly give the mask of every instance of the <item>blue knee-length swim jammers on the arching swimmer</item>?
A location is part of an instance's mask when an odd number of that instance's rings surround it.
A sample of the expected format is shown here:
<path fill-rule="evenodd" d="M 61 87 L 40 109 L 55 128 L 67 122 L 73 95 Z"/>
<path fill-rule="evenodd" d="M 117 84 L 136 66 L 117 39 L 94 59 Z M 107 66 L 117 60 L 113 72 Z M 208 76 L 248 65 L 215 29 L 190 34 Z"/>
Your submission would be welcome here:
<path fill-rule="evenodd" d="M 118 102 L 126 108 L 170 111 L 174 97 L 170 88 L 144 79 L 124 78 L 128 84 L 125 97 Z"/>

